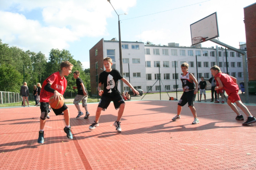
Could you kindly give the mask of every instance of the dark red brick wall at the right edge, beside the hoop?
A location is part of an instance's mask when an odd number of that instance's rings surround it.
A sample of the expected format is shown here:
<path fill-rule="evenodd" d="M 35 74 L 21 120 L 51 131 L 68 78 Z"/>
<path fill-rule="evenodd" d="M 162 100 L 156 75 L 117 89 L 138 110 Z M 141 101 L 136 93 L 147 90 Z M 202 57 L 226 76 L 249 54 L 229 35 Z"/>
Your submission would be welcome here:
<path fill-rule="evenodd" d="M 256 81 L 256 3 L 244 8 L 249 81 Z"/>

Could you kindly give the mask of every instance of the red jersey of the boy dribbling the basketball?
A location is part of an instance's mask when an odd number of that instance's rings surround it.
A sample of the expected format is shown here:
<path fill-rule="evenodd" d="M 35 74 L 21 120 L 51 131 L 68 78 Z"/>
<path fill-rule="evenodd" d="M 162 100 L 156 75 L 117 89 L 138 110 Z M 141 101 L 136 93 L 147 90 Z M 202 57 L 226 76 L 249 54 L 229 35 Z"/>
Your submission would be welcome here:
<path fill-rule="evenodd" d="M 61 79 L 60 77 L 60 72 L 55 72 L 52 75 L 50 75 L 42 85 L 42 89 L 40 92 L 40 102 L 49 102 L 49 99 L 54 93 L 45 91 L 44 86 L 48 83 L 51 82 L 51 88 L 54 90 L 57 90 L 60 94 L 64 94 L 66 88 L 67 88 L 67 80 L 65 77 Z"/>

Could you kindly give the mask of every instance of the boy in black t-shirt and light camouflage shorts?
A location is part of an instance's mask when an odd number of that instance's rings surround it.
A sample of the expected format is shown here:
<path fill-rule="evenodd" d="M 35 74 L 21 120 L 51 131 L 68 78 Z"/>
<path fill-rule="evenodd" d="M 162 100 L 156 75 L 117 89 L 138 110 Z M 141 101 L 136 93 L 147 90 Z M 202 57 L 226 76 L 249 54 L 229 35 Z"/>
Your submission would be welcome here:
<path fill-rule="evenodd" d="M 80 110 L 80 106 L 79 106 L 79 102 L 82 100 L 82 106 L 85 109 L 85 116 L 84 119 L 87 119 L 89 117 L 89 112 L 88 112 L 88 108 L 87 108 L 87 98 L 88 98 L 88 92 L 84 86 L 84 82 L 81 78 L 79 78 L 80 72 L 79 71 L 75 71 L 73 73 L 74 78 L 76 79 L 76 86 L 73 86 L 73 89 L 77 89 L 77 95 L 74 99 L 73 104 L 75 104 L 76 109 L 78 110 L 78 115 L 76 118 L 82 116 L 84 113 Z"/>

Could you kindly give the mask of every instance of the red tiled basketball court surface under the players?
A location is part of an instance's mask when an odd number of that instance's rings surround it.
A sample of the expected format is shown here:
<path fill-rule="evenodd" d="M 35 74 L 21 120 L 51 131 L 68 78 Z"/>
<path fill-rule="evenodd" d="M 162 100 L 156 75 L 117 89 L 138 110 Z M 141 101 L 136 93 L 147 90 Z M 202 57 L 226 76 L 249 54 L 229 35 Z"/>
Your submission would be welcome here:
<path fill-rule="evenodd" d="M 100 125 L 88 129 L 97 106 L 88 104 L 89 119 L 76 119 L 68 105 L 73 140 L 63 131 L 63 116 L 51 112 L 44 144 L 37 143 L 39 107 L 0 109 L 0 169 L 256 169 L 256 124 L 242 126 L 245 120 L 235 120 L 226 103 L 195 103 L 200 123 L 191 124 L 187 105 L 172 122 L 177 101 L 129 101 L 121 133 L 113 126 L 113 103 Z M 247 107 L 256 116 L 256 106 Z"/>

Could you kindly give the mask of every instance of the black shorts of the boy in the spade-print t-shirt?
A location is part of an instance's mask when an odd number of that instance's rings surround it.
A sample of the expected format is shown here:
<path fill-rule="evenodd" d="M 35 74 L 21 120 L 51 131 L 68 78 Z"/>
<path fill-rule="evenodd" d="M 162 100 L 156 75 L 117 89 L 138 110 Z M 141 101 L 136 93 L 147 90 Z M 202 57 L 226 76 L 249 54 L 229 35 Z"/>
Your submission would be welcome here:
<path fill-rule="evenodd" d="M 124 99 L 122 95 L 115 94 L 115 95 L 112 95 L 111 97 L 102 96 L 98 107 L 101 107 L 102 110 L 104 111 L 108 108 L 108 105 L 110 104 L 111 101 L 113 101 L 116 110 L 120 107 L 120 104 L 124 103 Z"/>

